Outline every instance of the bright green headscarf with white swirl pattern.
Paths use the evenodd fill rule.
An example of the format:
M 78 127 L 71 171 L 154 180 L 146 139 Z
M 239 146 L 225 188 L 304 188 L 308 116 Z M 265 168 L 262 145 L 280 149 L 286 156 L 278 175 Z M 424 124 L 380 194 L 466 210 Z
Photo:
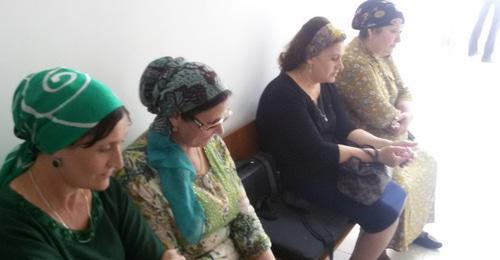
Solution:
M 111 89 L 73 69 L 53 68 L 24 78 L 12 102 L 14 134 L 24 142 L 5 158 L 0 187 L 26 171 L 38 153 L 68 147 L 120 106 Z

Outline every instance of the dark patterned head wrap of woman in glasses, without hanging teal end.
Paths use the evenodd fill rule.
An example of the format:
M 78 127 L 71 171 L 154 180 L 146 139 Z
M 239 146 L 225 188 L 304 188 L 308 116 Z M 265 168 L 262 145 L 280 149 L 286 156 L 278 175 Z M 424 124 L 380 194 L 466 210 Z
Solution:
M 190 111 L 228 91 L 210 67 L 182 57 L 152 61 L 141 77 L 140 97 L 148 111 L 156 114 L 151 129 L 170 135 L 168 117 Z

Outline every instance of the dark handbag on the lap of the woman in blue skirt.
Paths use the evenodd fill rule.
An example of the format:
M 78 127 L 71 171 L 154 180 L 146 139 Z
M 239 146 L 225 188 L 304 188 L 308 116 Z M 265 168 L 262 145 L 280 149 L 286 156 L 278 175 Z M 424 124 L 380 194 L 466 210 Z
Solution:
M 351 157 L 339 165 L 337 188 L 352 200 L 364 205 L 377 201 L 390 181 L 387 167 L 378 162 L 378 151 L 369 145 L 360 148 L 373 162 L 363 162 L 358 157 Z

